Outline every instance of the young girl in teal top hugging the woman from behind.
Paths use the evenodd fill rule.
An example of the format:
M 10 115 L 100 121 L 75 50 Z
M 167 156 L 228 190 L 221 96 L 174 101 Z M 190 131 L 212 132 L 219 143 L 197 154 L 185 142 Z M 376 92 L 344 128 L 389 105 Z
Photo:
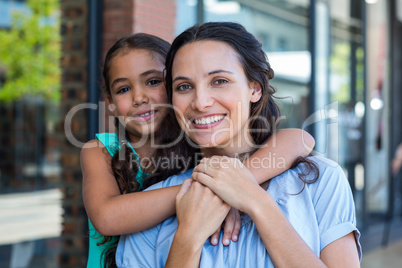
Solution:
M 172 109 L 164 105 L 167 95 L 163 70 L 168 49 L 169 44 L 158 37 L 134 34 L 117 41 L 106 55 L 103 71 L 106 97 L 116 117 L 119 135 L 98 134 L 81 153 L 83 199 L 90 219 L 88 267 L 100 267 L 101 252 L 113 248 L 117 241 L 113 237 L 105 243 L 102 235 L 138 232 L 174 215 L 179 186 L 139 191 L 183 172 L 197 161 L 194 148 L 185 139 L 177 139 L 180 127 Z M 297 156 L 307 155 L 314 146 L 311 136 L 301 130 L 278 131 L 275 139 L 267 141 L 267 146 L 252 158 L 276 157 L 282 160 L 281 164 L 268 168 L 248 166 L 261 183 L 288 169 Z M 175 145 L 159 146 L 170 143 Z M 185 161 L 178 163 L 176 156 Z M 145 170 L 138 165 L 143 159 L 148 159 Z M 158 160 L 167 160 L 169 164 Z M 236 214 L 230 216 L 232 220 L 226 220 L 225 245 L 231 238 L 237 240 L 240 223 L 235 223 L 233 215 Z M 211 238 L 215 245 L 218 234 L 219 231 Z

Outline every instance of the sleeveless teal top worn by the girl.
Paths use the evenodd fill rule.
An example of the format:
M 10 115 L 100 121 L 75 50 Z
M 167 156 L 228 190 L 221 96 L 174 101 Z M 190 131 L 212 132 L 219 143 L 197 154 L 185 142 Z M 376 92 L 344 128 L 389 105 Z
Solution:
M 103 143 L 103 145 L 105 145 L 107 151 L 112 157 L 120 149 L 119 138 L 116 133 L 99 133 L 96 134 L 96 139 L 98 139 L 100 142 Z M 134 148 L 130 145 L 130 143 L 127 144 L 133 150 L 136 160 L 139 160 Z M 136 179 L 140 184 L 140 189 L 142 188 L 144 177 L 145 177 L 144 172 L 141 169 L 139 169 L 136 175 Z M 87 268 L 104 267 L 102 252 L 105 249 L 111 247 L 116 241 L 118 241 L 119 236 L 113 236 L 111 241 L 103 245 L 98 245 L 98 243 L 103 242 L 104 236 L 99 234 L 95 230 L 89 219 L 88 219 L 88 229 L 89 229 L 89 253 L 88 253 Z

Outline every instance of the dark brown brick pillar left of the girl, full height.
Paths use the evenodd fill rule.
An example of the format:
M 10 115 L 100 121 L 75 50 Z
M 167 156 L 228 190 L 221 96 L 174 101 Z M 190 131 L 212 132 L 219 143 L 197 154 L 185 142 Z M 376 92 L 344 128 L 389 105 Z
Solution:
M 80 148 L 71 144 L 64 134 L 64 120 L 75 105 L 87 102 L 88 76 L 88 6 L 86 1 L 61 1 L 62 35 L 62 102 L 61 121 L 57 126 L 63 135 L 60 142 L 63 192 L 63 231 L 60 241 L 61 267 L 85 267 L 87 260 L 87 219 L 81 198 L 82 174 Z M 72 134 L 86 141 L 87 115 L 77 112 L 71 122 Z

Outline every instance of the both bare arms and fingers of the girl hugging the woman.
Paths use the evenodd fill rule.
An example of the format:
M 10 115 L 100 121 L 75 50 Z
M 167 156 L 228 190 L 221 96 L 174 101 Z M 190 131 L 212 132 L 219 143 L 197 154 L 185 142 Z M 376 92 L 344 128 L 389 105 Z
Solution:
M 269 157 L 272 167 L 265 167 L 267 162 L 261 162 L 260 166 L 252 161 L 245 163 L 259 183 L 290 168 L 298 156 L 308 155 L 314 146 L 314 139 L 301 129 L 284 129 L 272 135 L 266 145 L 250 160 Z M 100 141 L 93 140 L 81 151 L 84 205 L 100 234 L 121 235 L 142 231 L 174 215 L 175 197 L 180 186 L 121 195 L 111 169 L 111 157 L 105 150 Z M 230 238 L 237 240 L 235 237 L 240 224 L 236 222 L 238 217 L 226 220 L 223 241 Z M 217 241 L 218 234 L 215 233 L 211 240 Z

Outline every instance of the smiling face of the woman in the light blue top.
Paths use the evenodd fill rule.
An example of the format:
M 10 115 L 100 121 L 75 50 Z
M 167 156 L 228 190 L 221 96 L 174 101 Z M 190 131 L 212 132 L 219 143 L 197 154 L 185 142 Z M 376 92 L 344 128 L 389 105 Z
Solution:
M 248 81 L 230 45 L 197 41 L 183 46 L 175 56 L 172 79 L 177 119 L 195 143 L 223 148 L 226 155 L 252 148 L 250 103 L 261 98 L 261 87 Z

